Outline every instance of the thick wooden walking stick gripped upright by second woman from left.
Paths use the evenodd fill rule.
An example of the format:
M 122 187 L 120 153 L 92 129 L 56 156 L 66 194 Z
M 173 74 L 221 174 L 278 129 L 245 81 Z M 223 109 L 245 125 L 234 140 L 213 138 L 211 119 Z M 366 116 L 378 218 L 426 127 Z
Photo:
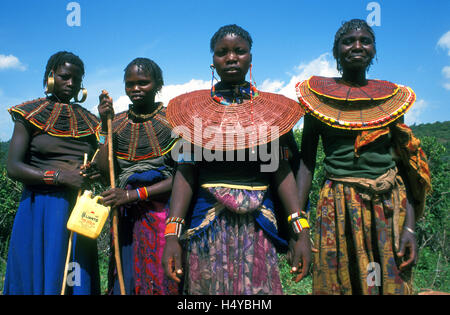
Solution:
M 116 187 L 116 180 L 114 175 L 114 155 L 113 155 L 113 140 L 112 140 L 112 119 L 108 118 L 108 160 L 109 160 L 109 178 L 111 182 L 111 188 Z M 120 294 L 125 295 L 125 284 L 123 282 L 122 262 L 120 260 L 119 249 L 119 213 L 117 208 L 113 208 L 113 240 L 114 240 L 114 257 L 116 259 L 117 277 L 119 279 Z

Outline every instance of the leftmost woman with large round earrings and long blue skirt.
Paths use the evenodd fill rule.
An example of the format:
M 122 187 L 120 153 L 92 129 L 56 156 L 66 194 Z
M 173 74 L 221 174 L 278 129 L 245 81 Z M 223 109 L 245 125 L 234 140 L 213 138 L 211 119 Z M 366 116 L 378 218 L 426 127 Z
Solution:
M 77 191 L 90 176 L 84 156 L 97 148 L 97 118 L 77 100 L 84 64 L 73 53 L 50 57 L 47 97 L 9 109 L 15 122 L 8 176 L 24 184 L 10 240 L 4 294 L 59 294 L 69 239 L 66 228 Z M 85 90 L 83 94 L 85 98 Z M 93 175 L 93 174 L 91 174 Z M 71 259 L 76 275 L 68 290 L 99 294 L 96 241 L 77 235 Z

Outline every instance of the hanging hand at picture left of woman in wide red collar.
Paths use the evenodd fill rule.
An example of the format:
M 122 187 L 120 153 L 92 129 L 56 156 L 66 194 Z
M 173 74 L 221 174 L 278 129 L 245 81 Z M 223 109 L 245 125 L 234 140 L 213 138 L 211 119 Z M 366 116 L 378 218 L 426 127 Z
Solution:
M 164 273 L 170 279 L 180 283 L 181 277 L 183 275 L 182 269 L 182 249 L 178 237 L 167 236 L 166 245 L 164 246 L 164 252 L 162 256 L 162 265 L 164 268 Z

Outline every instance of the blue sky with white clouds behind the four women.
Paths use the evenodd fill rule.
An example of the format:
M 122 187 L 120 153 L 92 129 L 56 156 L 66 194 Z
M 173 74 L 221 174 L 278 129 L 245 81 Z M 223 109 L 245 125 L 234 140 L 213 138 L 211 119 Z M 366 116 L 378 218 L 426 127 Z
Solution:
M 79 26 L 67 23 L 68 16 L 76 22 L 70 19 L 76 9 L 67 9 L 71 2 L 79 4 Z M 53 53 L 72 51 L 84 61 L 89 92 L 84 107 L 97 113 L 98 95 L 106 89 L 120 111 L 128 102 L 123 69 L 136 57 L 151 58 L 162 68 L 164 102 L 209 88 L 210 38 L 231 23 L 253 38 L 258 88 L 294 98 L 299 80 L 337 75 L 331 49 L 343 21 L 377 17 L 378 61 L 369 77 L 413 88 L 417 102 L 408 123 L 450 120 L 449 13 L 448 0 L 2 1 L 0 141 L 12 134 L 6 109 L 43 96 L 42 77 Z

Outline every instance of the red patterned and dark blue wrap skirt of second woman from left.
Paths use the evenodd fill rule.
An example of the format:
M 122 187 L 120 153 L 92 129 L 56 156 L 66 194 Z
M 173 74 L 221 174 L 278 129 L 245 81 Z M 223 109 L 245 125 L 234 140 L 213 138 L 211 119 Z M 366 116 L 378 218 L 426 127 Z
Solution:
M 151 170 L 136 173 L 128 179 L 126 189 L 149 186 L 164 178 L 162 172 Z M 164 198 L 161 198 L 164 199 Z M 146 200 L 127 204 L 119 211 L 119 247 L 127 295 L 175 295 L 180 286 L 164 274 L 161 264 L 165 221 L 169 213 L 165 200 Z M 120 294 L 112 242 L 109 291 Z

